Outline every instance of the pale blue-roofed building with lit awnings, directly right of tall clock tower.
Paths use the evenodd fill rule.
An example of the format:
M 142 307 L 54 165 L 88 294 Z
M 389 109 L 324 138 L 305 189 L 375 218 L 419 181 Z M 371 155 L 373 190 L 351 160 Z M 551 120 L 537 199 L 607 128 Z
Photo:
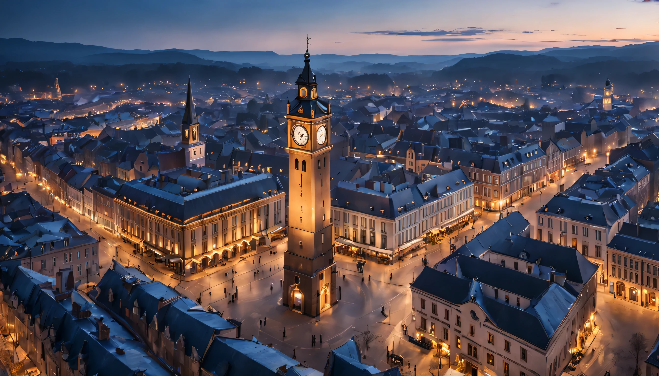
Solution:
M 473 195 L 459 169 L 419 182 L 399 164 L 373 163 L 362 178 L 331 190 L 335 250 L 390 264 L 428 232 L 469 221 Z

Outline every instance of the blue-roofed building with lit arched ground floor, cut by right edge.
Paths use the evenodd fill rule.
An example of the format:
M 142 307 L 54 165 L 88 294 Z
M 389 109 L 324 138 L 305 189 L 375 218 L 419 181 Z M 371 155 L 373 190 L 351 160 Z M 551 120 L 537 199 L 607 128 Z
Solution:
M 659 310 L 659 230 L 623 223 L 607 244 L 608 292 L 646 308 Z

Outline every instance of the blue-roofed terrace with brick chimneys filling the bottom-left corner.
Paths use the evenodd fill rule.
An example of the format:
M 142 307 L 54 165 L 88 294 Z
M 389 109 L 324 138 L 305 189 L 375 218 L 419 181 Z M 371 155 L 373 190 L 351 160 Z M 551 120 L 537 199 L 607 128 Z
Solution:
M 163 362 L 144 356 L 140 338 L 74 288 L 72 273 L 48 277 L 18 265 L 3 271 L 0 323 L 13 333 L 0 338 L 7 373 L 171 375 Z

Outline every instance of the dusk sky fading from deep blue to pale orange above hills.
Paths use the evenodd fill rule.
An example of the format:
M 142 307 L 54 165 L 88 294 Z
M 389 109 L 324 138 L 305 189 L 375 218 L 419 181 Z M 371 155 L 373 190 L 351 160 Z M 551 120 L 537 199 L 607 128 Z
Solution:
M 7 1 L 2 38 L 120 49 L 451 55 L 659 40 L 659 2 Z M 26 24 L 26 20 L 30 20 Z

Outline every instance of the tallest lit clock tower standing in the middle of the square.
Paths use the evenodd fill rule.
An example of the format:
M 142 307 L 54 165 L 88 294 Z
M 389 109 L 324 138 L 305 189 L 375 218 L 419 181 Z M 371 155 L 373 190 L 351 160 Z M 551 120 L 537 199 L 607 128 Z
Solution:
M 318 316 L 337 302 L 329 196 L 329 103 L 318 98 L 316 75 L 304 68 L 287 103 L 289 152 L 288 250 L 284 254 L 283 305 Z

